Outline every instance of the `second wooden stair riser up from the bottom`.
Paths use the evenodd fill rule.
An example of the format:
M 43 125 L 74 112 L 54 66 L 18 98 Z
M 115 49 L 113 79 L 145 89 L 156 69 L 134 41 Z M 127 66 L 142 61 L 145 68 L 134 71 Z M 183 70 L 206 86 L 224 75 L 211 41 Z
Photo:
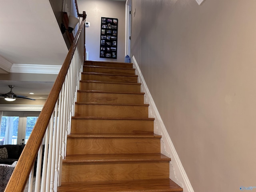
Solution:
M 160 153 L 160 138 L 68 138 L 67 155 Z

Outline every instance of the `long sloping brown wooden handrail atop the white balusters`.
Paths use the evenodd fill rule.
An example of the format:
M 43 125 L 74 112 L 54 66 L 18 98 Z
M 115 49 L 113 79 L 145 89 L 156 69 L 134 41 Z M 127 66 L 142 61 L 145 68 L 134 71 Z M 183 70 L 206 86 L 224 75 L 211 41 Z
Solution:
M 86 13 L 83 12 L 83 20 L 80 24 L 78 32 L 76 33 L 74 41 L 71 44 L 66 59 L 64 60 L 62 68 L 60 69 L 56 81 L 54 82 L 52 90 L 50 91 L 44 107 L 42 108 L 38 120 L 36 121 L 34 129 L 32 130 L 26 146 L 24 147 L 24 150 L 22 151 L 22 154 L 18 160 L 18 163 L 14 168 L 12 176 L 6 186 L 6 189 L 4 190 L 5 192 L 24 191 L 28 176 L 30 174 L 30 171 L 32 170 L 39 147 L 46 132 L 46 128 L 52 116 L 52 112 L 58 100 L 68 69 L 70 67 L 74 51 L 76 50 L 78 38 L 82 34 L 83 27 L 85 27 L 85 18 Z

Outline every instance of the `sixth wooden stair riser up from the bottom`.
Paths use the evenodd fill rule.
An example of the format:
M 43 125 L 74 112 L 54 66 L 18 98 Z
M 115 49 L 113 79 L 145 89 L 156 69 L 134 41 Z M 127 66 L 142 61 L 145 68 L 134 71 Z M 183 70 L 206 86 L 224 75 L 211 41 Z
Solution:
M 140 92 L 140 85 L 106 84 L 94 82 L 80 82 L 80 90 L 97 90 L 112 92 Z

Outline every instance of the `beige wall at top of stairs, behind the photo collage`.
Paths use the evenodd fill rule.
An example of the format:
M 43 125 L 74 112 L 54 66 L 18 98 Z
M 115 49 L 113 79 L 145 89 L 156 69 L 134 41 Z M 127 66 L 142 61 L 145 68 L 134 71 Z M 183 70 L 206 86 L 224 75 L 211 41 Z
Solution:
M 113 0 L 77 0 L 79 11 L 86 11 L 86 51 L 89 60 L 124 62 L 125 56 L 125 2 Z M 100 58 L 101 17 L 118 18 L 117 59 Z

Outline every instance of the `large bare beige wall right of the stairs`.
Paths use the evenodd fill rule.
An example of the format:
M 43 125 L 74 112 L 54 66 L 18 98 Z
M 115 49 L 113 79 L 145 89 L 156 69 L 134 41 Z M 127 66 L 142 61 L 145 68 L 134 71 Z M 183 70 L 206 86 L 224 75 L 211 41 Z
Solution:
M 256 186 L 255 10 L 254 0 L 132 1 L 132 55 L 195 192 Z

